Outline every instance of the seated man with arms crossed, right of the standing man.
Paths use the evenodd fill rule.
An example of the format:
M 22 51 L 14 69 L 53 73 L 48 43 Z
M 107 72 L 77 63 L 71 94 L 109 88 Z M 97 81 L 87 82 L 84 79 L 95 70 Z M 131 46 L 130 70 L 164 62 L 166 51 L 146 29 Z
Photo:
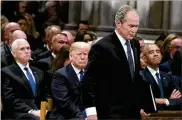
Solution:
M 155 44 L 148 44 L 145 46 L 143 51 L 143 59 L 145 63 L 147 64 L 147 67 L 142 71 L 142 75 L 144 76 L 144 80 L 147 81 L 153 90 L 153 94 L 155 98 L 167 98 L 165 99 L 165 105 L 169 106 L 169 98 L 172 91 L 174 89 L 177 89 L 177 91 L 174 91 L 174 94 L 181 94 L 179 92 L 179 85 L 176 84 L 176 82 L 173 82 L 174 80 L 171 79 L 171 77 L 162 71 L 159 71 L 159 64 L 162 59 L 162 55 L 160 52 L 160 49 Z M 179 98 L 181 96 L 176 96 L 174 98 Z M 160 107 L 159 107 L 160 108 Z M 161 108 L 165 108 L 165 106 L 162 106 Z

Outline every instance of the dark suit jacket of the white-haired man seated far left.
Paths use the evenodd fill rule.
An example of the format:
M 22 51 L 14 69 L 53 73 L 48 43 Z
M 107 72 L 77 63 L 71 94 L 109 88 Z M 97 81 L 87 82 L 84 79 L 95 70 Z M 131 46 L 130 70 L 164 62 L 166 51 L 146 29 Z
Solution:
M 29 110 L 39 109 L 40 101 L 46 97 L 44 96 L 43 72 L 34 67 L 30 68 L 36 80 L 36 96 L 33 95 L 26 76 L 16 63 L 1 70 L 3 106 L 7 116 L 21 118 Z

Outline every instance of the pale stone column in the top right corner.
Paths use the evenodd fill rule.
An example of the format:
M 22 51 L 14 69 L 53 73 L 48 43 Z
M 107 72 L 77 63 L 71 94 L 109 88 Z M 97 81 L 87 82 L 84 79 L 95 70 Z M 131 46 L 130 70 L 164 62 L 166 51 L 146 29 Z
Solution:
M 170 29 L 182 30 L 182 1 L 171 1 Z

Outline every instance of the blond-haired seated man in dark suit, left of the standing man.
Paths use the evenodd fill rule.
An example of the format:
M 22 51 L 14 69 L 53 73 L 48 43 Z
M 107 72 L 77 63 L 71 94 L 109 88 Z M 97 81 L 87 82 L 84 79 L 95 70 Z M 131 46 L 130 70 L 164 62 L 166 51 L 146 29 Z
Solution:
M 71 64 L 58 69 L 53 75 L 51 89 L 55 108 L 50 114 L 51 119 L 84 118 L 84 109 L 80 105 L 80 81 L 88 62 L 89 50 L 90 45 L 85 42 L 73 43 L 69 54 Z

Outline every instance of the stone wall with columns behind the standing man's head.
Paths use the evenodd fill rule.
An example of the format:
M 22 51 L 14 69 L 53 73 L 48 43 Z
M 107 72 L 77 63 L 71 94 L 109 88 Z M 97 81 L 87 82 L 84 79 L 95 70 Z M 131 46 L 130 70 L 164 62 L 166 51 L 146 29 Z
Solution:
M 114 16 L 123 4 L 133 6 L 140 15 L 139 34 L 155 39 L 163 32 L 182 33 L 182 1 L 108 0 L 69 1 L 67 26 L 88 20 L 99 36 L 114 29 Z M 101 29 L 100 29 L 101 28 Z M 105 30 L 105 29 L 109 29 Z

